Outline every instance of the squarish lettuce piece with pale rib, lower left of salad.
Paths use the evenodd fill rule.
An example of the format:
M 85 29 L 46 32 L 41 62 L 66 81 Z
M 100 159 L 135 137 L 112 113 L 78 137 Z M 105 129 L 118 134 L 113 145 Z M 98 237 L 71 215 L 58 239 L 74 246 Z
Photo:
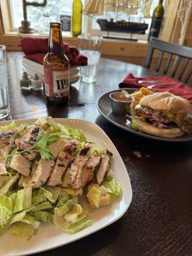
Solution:
M 13 202 L 13 213 L 29 209 L 32 205 L 32 188 L 24 188 L 10 195 Z

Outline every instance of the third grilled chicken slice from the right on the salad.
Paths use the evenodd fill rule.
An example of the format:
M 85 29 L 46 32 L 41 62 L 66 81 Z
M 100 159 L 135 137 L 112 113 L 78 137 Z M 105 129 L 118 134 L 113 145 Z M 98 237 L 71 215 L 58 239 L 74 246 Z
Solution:
M 86 143 L 78 156 L 76 157 L 74 163 L 71 164 L 70 172 L 68 173 L 68 186 L 72 186 L 72 188 L 81 188 L 81 174 L 83 172 L 83 167 L 88 161 L 87 153 L 92 148 L 90 143 Z

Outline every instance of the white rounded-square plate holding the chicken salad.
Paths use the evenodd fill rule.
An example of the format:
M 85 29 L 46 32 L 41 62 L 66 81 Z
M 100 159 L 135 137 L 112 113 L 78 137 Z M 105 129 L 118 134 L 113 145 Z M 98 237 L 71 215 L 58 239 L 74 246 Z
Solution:
M 29 241 L 27 241 L 26 238 L 23 239 L 10 236 L 9 234 L 3 234 L 0 237 L 1 256 L 28 255 L 72 243 L 115 222 L 125 214 L 131 204 L 132 189 L 127 170 L 115 145 L 113 145 L 113 142 L 109 139 L 106 133 L 102 131 L 98 125 L 85 120 L 67 118 L 55 118 L 54 120 L 60 122 L 60 124 L 70 125 L 70 127 L 73 128 L 80 128 L 84 134 L 86 134 L 88 140 L 95 141 L 97 145 L 106 147 L 113 153 L 111 169 L 114 172 L 115 179 L 122 184 L 122 198 L 115 200 L 111 206 L 90 213 L 88 218 L 92 220 L 92 227 L 85 228 L 76 234 L 63 232 L 59 228 L 56 228 L 52 223 L 42 225 L 36 236 L 32 237 Z M 35 122 L 35 119 L 16 120 L 17 124 L 28 122 Z M 4 121 L 1 122 L 1 125 L 9 123 L 10 121 Z

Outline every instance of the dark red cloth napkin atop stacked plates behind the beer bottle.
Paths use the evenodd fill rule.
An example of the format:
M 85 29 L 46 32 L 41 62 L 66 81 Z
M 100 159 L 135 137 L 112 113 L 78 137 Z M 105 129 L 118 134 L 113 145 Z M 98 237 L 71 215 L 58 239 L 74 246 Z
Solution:
M 77 48 L 73 45 L 63 43 L 65 54 L 72 66 L 86 66 L 87 58 L 80 54 Z M 34 37 L 23 36 L 19 45 L 26 54 L 26 58 L 37 63 L 42 64 L 45 54 L 48 51 L 48 38 L 47 37 Z

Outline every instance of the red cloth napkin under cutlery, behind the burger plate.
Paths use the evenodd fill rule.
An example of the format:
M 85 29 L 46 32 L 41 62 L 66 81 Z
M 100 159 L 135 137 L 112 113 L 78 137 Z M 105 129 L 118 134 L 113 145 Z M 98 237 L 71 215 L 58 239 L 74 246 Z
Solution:
M 146 83 L 138 84 L 138 81 L 146 81 Z M 124 81 L 119 84 L 120 88 L 141 88 L 152 86 L 153 84 L 148 84 L 147 81 L 163 81 L 161 83 L 156 83 L 152 87 L 154 92 L 171 92 L 175 95 L 183 97 L 192 103 L 192 89 L 186 86 L 184 83 L 179 83 L 170 77 L 134 77 L 131 73 L 125 77 Z

